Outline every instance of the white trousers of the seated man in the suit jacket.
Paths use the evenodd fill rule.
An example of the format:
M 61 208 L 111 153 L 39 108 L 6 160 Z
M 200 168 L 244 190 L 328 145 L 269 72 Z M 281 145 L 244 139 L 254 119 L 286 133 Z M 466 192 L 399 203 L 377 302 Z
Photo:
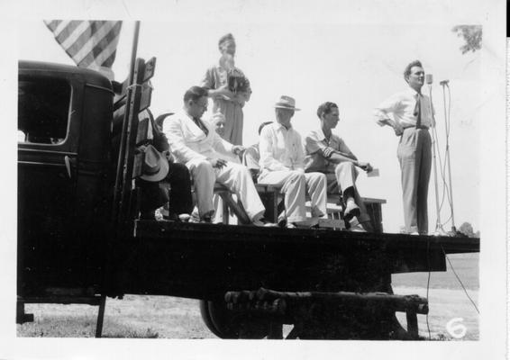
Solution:
M 214 183 L 223 184 L 237 195 L 250 220 L 260 219 L 266 211 L 250 171 L 245 166 L 228 161 L 226 166 L 219 169 L 202 159 L 188 161 L 186 166 L 193 177 L 196 204 L 201 218 L 205 214 L 214 213 Z

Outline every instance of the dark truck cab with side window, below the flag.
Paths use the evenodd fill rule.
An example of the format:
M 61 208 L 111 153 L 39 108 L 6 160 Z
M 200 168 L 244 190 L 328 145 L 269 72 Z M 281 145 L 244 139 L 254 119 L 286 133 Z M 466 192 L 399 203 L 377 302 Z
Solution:
M 113 97 L 95 71 L 19 63 L 19 295 L 100 282 Z

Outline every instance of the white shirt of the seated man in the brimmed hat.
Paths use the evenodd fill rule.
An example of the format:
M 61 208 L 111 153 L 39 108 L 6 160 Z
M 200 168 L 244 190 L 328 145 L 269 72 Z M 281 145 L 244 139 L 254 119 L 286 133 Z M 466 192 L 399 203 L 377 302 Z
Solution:
M 260 132 L 260 168 L 264 171 L 304 169 L 305 152 L 301 135 L 292 126 L 278 122 L 264 126 Z

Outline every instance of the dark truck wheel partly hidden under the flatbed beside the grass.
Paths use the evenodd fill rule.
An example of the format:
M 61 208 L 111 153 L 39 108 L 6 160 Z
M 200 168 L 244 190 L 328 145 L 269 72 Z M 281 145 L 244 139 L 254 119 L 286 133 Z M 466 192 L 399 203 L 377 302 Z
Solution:
M 222 301 L 200 301 L 200 314 L 205 325 L 218 338 L 265 338 L 267 321 L 251 319 L 250 314 L 232 314 Z

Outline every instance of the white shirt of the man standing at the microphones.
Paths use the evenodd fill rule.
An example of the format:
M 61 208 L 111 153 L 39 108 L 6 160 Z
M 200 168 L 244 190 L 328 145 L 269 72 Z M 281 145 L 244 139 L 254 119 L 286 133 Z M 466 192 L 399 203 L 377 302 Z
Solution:
M 387 100 L 380 103 L 374 110 L 376 122 L 383 126 L 383 120 L 393 119 L 404 128 L 416 126 L 416 116 L 414 115 L 414 108 L 416 106 L 416 95 L 418 93 L 411 87 L 405 91 L 393 94 Z M 433 117 L 431 116 L 431 108 L 433 105 L 427 95 L 422 94 L 420 109 L 422 117 L 422 126 L 430 128 L 433 124 Z

